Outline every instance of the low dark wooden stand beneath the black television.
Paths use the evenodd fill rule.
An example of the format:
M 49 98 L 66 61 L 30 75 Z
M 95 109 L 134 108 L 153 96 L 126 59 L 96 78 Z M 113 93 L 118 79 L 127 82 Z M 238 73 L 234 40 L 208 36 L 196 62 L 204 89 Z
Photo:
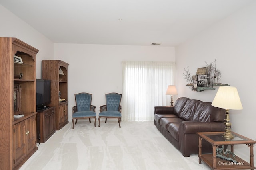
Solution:
M 55 107 L 38 110 L 36 115 L 36 142 L 44 143 L 55 133 Z

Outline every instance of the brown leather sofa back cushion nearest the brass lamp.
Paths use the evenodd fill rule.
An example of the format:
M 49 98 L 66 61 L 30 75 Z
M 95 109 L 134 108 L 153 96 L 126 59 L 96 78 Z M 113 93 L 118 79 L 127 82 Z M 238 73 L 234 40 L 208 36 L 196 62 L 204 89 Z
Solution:
M 225 109 L 214 107 L 211 104 L 211 102 L 200 102 L 192 121 L 224 122 Z

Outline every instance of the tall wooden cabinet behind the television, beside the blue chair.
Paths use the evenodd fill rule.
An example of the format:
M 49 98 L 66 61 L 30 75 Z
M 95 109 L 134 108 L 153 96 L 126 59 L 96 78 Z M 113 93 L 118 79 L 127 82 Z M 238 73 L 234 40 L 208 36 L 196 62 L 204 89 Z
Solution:
M 51 80 L 49 106 L 55 106 L 56 130 L 68 123 L 68 65 L 61 60 L 42 61 L 42 78 Z

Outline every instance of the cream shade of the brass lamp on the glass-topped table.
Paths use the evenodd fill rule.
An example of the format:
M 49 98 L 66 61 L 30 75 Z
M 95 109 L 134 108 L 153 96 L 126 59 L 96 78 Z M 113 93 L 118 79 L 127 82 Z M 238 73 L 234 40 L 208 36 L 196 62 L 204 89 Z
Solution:
M 236 87 L 220 86 L 212 106 L 223 109 L 242 110 L 243 106 Z

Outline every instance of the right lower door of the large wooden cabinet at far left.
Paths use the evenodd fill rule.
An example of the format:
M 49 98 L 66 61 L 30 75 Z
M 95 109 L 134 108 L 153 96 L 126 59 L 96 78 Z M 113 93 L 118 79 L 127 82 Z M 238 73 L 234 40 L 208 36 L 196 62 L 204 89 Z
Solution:
M 36 115 L 26 119 L 27 150 L 30 153 L 36 148 Z

